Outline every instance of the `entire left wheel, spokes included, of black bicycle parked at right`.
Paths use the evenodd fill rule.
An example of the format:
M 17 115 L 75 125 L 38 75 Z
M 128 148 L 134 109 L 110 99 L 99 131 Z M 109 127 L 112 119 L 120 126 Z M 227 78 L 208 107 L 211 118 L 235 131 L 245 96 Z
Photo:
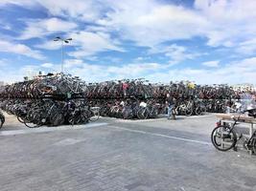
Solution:
M 212 131 L 211 140 L 215 148 L 220 151 L 228 151 L 235 147 L 237 136 L 229 126 L 221 125 Z

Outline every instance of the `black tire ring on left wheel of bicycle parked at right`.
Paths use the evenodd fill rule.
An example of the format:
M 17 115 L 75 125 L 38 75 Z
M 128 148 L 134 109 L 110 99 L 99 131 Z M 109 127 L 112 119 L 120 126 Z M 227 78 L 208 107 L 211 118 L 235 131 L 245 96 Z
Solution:
M 230 146 L 228 146 L 227 148 L 222 148 L 221 146 L 223 146 L 223 144 L 221 145 L 221 143 L 218 143 L 217 140 L 216 140 L 216 135 L 215 135 L 215 133 L 216 133 L 218 130 L 221 130 L 221 128 L 223 128 L 222 131 L 223 131 L 223 130 L 226 131 L 225 134 L 227 134 L 227 135 L 224 135 L 224 136 L 225 136 L 226 138 L 230 138 L 230 140 L 231 140 L 231 144 L 230 144 Z M 218 133 L 219 136 L 221 136 L 221 135 L 220 135 L 220 132 L 217 132 L 217 133 Z M 223 134 L 223 132 L 222 132 L 222 134 Z M 223 135 L 222 135 L 222 136 L 223 136 Z M 223 139 L 224 139 L 224 138 L 223 138 Z M 213 143 L 213 145 L 214 145 L 214 147 L 215 147 L 216 149 L 218 149 L 219 151 L 223 151 L 223 152 L 224 152 L 224 151 L 228 151 L 228 150 L 230 150 L 230 149 L 232 149 L 233 147 L 236 146 L 236 143 L 237 143 L 237 135 L 236 135 L 236 133 L 233 131 L 233 129 L 230 129 L 229 126 L 220 125 L 220 126 L 214 128 L 214 130 L 212 131 L 212 134 L 211 134 L 211 141 L 212 141 L 212 143 Z

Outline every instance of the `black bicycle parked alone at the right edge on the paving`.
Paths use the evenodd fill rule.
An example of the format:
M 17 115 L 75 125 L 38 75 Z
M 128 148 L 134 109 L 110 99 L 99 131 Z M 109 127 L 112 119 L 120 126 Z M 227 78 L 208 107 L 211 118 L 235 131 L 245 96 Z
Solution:
M 217 123 L 217 127 L 212 131 L 211 140 L 215 148 L 220 151 L 228 151 L 236 148 L 238 140 L 243 140 L 244 149 L 256 154 L 256 130 L 250 138 L 246 138 L 235 127 L 239 124 L 241 115 L 233 117 L 234 123 Z

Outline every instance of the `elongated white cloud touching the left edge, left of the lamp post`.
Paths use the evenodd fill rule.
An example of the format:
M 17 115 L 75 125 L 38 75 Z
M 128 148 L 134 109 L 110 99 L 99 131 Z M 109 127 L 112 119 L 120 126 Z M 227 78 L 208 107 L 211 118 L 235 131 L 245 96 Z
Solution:
M 44 59 L 45 56 L 38 51 L 34 51 L 26 45 L 12 43 L 8 41 L 0 41 L 0 52 L 3 53 L 17 53 L 21 55 L 26 55 L 28 57 L 33 57 L 35 59 Z

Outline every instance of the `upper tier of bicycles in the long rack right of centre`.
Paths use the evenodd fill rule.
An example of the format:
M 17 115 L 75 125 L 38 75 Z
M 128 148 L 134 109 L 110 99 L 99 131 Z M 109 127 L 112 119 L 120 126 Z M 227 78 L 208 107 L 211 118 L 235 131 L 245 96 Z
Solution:
M 189 82 L 171 82 L 170 84 L 149 83 L 145 79 L 122 79 L 89 83 L 85 96 L 90 99 L 124 99 L 136 97 L 140 99 L 161 99 L 168 93 L 176 99 L 212 99 L 222 100 L 239 98 L 240 95 L 227 85 L 191 86 Z

